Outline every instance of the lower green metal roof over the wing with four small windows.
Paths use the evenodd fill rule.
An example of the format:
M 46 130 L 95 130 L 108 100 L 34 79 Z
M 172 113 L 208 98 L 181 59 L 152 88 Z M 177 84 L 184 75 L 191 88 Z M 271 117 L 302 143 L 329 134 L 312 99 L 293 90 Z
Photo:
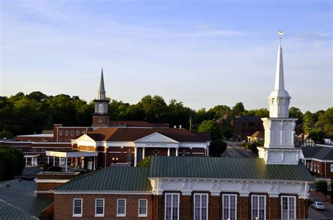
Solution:
M 82 175 L 54 191 L 151 191 L 148 167 L 107 167 Z

